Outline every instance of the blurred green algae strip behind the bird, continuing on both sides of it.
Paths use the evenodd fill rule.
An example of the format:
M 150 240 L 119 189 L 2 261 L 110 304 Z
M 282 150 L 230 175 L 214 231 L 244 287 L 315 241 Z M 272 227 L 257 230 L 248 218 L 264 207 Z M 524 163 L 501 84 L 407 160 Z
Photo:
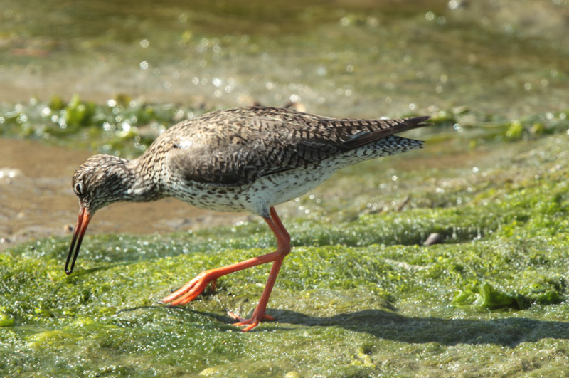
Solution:
M 53 95 L 48 101 L 31 98 L 27 103 L 0 104 L 0 136 L 137 157 L 167 127 L 207 110 L 199 105 L 144 103 L 124 94 L 103 105 L 81 100 L 78 95 L 69 101 Z M 568 113 L 506 120 L 459 107 L 436 112 L 430 119 L 430 130 L 420 130 L 416 135 L 430 143 L 453 140 L 454 148 L 467 144 L 471 149 L 488 142 L 536 140 L 564 132 Z

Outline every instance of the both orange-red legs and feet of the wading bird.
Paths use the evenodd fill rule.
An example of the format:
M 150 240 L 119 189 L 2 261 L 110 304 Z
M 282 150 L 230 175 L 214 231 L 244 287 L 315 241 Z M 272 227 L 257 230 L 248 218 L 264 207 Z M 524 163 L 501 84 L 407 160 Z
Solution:
M 255 308 L 255 311 L 253 311 L 251 318 L 244 320 L 233 313 L 228 312 L 228 314 L 236 320 L 239 320 L 235 325 L 247 325 L 247 327 L 243 328 L 243 331 L 248 331 L 256 327 L 261 320 L 273 320 L 272 316 L 265 314 L 265 310 L 267 309 L 267 303 L 269 302 L 272 287 L 275 285 L 275 281 L 277 280 L 277 275 L 279 274 L 282 261 L 284 261 L 285 256 L 290 252 L 290 236 L 285 229 L 285 226 L 282 225 L 282 221 L 277 215 L 275 208 L 271 207 L 270 217 L 264 219 L 277 238 L 277 250 L 275 252 L 250 258 L 248 260 L 241 261 L 240 263 L 203 271 L 196 275 L 196 278 L 193 278 L 193 280 L 179 288 L 179 290 L 176 290 L 174 293 L 171 293 L 166 298 L 162 299 L 161 302 L 169 303 L 171 306 L 184 305 L 200 295 L 209 283 L 213 282 L 213 285 L 215 285 L 216 280 L 222 275 L 241 271 L 245 268 L 250 268 L 260 264 L 270 263 L 272 261 L 273 263 L 267 284 L 265 285 L 265 289 L 262 291 L 259 304 L 257 305 L 257 308 Z

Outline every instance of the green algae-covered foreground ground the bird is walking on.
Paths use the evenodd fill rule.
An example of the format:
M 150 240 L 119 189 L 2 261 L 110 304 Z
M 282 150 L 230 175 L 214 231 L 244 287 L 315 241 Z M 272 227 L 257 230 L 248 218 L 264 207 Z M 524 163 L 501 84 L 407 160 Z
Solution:
M 226 311 L 252 312 L 268 266 L 221 278 L 188 305 L 157 301 L 207 268 L 272 251 L 262 220 L 87 233 L 70 276 L 67 238 L 5 251 L 0 375 L 569 374 L 566 115 L 454 123 L 470 116 L 440 114 L 412 135 L 425 149 L 344 169 L 280 206 L 294 248 L 268 306 L 276 320 L 247 333 Z M 68 137 L 83 138 L 92 122 Z M 41 135 L 33 130 L 28 137 Z M 442 243 L 423 246 L 431 233 Z

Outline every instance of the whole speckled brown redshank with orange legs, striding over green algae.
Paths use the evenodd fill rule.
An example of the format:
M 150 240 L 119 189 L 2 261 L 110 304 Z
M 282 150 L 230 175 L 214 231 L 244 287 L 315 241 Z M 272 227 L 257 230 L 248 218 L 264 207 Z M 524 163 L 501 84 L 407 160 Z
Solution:
M 317 187 L 341 167 L 422 147 L 420 140 L 393 134 L 425 126 L 427 118 L 335 119 L 292 109 L 239 107 L 172 126 L 137 159 L 92 156 L 73 174 L 79 216 L 65 273 L 73 271 L 95 211 L 113 202 L 171 196 L 204 209 L 249 211 L 265 219 L 275 233 L 277 249 L 203 271 L 161 302 L 184 305 L 222 275 L 272 262 L 252 316 L 242 319 L 228 313 L 243 331 L 251 330 L 262 320 L 273 320 L 265 313 L 267 302 L 291 248 L 274 206 Z

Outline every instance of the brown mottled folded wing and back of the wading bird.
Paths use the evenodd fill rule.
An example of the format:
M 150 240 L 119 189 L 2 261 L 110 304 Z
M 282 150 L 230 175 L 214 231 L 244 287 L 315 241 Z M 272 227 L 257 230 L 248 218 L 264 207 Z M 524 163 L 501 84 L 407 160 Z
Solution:
M 215 114 L 192 122 L 168 152 L 169 166 L 188 182 L 246 184 L 421 127 L 428 118 L 336 120 L 266 107 Z

